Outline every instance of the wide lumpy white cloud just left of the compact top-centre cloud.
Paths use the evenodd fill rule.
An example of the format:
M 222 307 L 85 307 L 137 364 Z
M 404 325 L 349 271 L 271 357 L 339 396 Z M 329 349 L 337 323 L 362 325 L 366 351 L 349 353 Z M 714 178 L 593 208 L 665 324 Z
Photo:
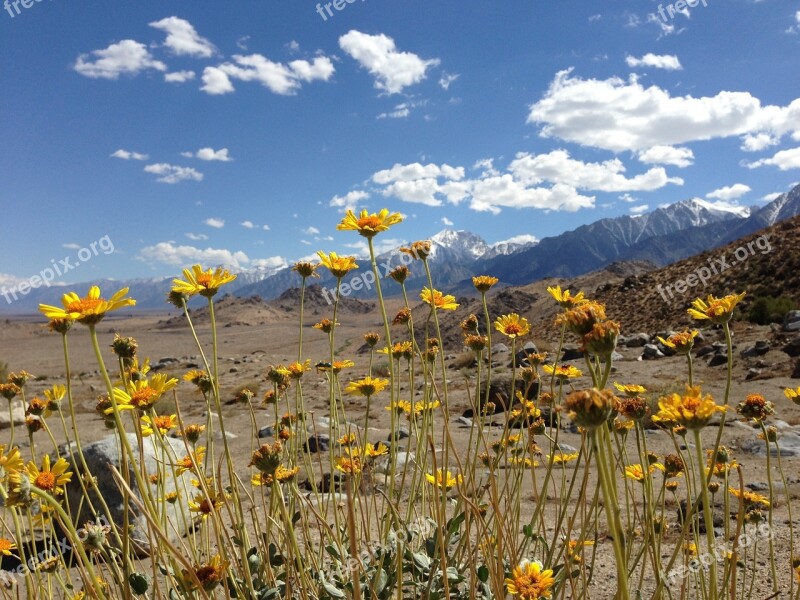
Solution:
M 233 63 L 226 62 L 203 71 L 203 86 L 208 94 L 227 94 L 234 91 L 231 79 L 257 81 L 275 94 L 290 96 L 297 93 L 303 82 L 328 81 L 335 72 L 327 56 L 317 56 L 312 62 L 293 60 L 288 65 L 276 63 L 260 54 L 234 55 Z

